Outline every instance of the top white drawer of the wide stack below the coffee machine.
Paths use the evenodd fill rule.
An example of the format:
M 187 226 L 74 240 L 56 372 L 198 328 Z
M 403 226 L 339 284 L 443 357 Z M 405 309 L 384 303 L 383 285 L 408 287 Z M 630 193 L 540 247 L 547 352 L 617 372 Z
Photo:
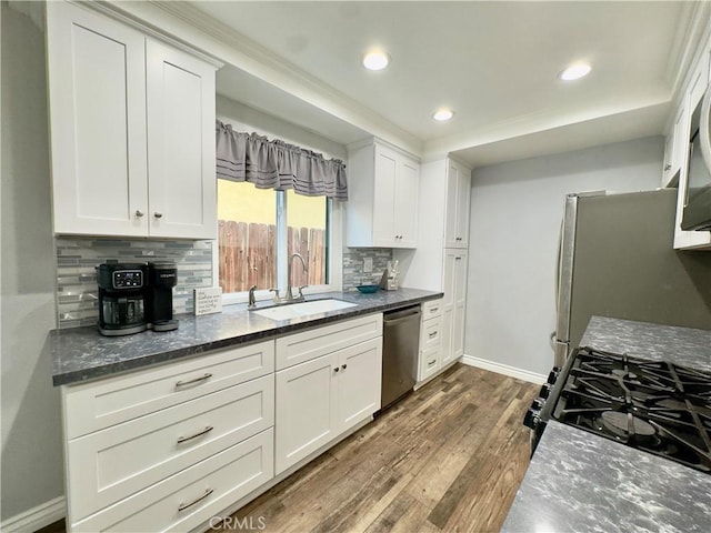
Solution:
M 209 352 L 184 362 L 62 388 L 64 431 L 74 439 L 274 370 L 274 342 Z

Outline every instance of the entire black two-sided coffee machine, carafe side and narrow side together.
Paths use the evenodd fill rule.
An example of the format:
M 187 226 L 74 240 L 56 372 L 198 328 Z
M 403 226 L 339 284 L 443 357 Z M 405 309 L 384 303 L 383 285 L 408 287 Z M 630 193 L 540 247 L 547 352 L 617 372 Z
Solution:
M 99 332 L 129 335 L 147 329 L 172 331 L 174 263 L 102 263 L 99 284 Z

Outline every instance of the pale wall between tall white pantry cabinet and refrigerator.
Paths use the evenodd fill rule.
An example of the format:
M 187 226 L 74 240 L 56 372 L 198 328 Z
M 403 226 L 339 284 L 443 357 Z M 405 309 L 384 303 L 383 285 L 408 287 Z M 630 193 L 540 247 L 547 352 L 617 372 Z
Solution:
M 564 195 L 655 189 L 663 149 L 652 137 L 472 172 L 467 355 L 548 374 Z

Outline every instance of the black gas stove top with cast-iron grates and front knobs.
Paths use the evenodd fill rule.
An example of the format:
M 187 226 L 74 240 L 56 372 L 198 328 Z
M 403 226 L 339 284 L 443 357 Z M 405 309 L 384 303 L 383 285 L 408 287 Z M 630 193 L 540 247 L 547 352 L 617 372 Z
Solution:
M 553 382 L 527 416 L 538 438 L 552 418 L 711 473 L 711 372 L 580 348 L 542 396 Z

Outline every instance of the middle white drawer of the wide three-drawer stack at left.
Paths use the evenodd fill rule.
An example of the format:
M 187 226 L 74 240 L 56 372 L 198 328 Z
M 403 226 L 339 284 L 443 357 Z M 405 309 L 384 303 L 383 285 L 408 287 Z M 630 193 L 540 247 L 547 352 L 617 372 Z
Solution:
M 273 423 L 274 379 L 266 375 L 71 440 L 71 515 L 87 516 Z

